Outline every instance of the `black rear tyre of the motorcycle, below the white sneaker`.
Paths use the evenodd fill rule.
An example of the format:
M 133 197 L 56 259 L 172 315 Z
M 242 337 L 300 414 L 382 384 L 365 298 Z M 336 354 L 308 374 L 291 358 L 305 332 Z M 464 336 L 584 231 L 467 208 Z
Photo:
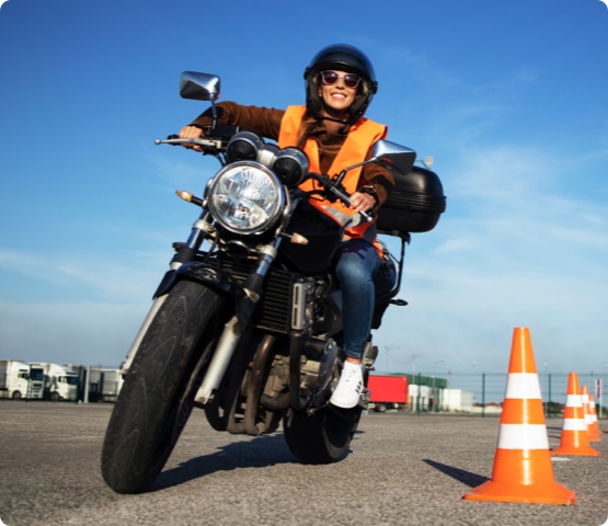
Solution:
M 312 414 L 289 411 L 283 427 L 289 450 L 303 464 L 331 464 L 346 455 L 362 408 L 328 405 Z

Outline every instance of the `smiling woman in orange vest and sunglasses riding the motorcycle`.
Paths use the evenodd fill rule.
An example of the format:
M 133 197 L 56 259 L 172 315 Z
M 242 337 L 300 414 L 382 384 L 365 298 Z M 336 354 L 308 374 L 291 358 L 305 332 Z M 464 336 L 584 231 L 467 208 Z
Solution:
M 275 110 L 221 102 L 217 104 L 217 124 L 238 125 L 276 140 L 280 148 L 301 148 L 309 158 L 310 171 L 330 176 L 369 159 L 376 141 L 386 138 L 387 127 L 364 117 L 378 89 L 367 56 L 346 44 L 324 47 L 312 58 L 303 78 L 306 106 Z M 183 127 L 180 137 L 202 137 L 211 123 L 211 112 L 207 111 Z M 300 187 L 311 192 L 312 206 L 344 228 L 335 272 L 343 294 L 345 362 L 330 401 L 348 409 L 358 403 L 363 389 L 362 356 L 371 328 L 374 279 L 381 262 L 375 224 L 358 213 L 378 210 L 394 180 L 386 167 L 369 163 L 349 170 L 342 184 L 351 194 L 351 206 L 320 196 L 322 188 L 312 179 Z

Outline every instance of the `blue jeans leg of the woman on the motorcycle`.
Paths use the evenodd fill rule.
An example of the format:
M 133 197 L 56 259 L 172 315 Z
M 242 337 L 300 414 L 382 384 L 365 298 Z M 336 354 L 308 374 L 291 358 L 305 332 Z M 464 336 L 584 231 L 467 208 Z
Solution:
M 374 279 L 379 267 L 380 256 L 367 241 L 352 239 L 340 245 L 335 274 L 343 297 L 343 351 L 353 358 L 363 356 L 371 330 L 376 296 Z

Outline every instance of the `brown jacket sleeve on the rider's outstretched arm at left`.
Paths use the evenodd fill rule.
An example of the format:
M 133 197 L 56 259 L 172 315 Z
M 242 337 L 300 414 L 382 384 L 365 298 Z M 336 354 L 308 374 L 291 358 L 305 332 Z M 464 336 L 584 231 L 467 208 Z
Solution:
M 217 104 L 218 123 L 236 125 L 242 129 L 253 132 L 267 139 L 278 140 L 280 121 L 284 110 L 261 106 L 243 106 L 236 102 L 220 102 Z M 211 110 L 205 111 L 196 117 L 191 126 L 208 128 L 211 125 Z

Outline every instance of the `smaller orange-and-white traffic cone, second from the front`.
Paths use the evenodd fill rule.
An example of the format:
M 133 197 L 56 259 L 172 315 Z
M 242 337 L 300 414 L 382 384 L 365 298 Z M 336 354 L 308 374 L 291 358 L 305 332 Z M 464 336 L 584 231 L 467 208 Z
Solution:
M 585 408 L 583 397 L 578 389 L 578 375 L 571 373 L 567 378 L 567 393 L 564 409 L 564 423 L 560 447 L 551 451 L 552 455 L 577 455 L 584 457 L 598 457 L 589 446 L 587 423 L 585 422 Z

